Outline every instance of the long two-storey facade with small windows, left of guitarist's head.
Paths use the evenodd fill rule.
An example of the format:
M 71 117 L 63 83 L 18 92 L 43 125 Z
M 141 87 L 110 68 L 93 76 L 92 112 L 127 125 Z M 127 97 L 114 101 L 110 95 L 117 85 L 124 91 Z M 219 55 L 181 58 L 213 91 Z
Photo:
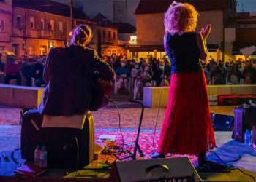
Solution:
M 13 7 L 12 12 L 12 50 L 18 57 L 45 55 L 69 39 L 68 17 L 20 7 Z

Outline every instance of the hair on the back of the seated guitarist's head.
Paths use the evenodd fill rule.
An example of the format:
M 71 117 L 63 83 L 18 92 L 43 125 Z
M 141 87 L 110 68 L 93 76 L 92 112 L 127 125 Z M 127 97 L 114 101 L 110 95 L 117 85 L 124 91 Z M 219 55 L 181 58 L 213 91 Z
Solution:
M 86 46 L 90 43 L 92 39 L 92 30 L 88 25 L 78 25 L 74 31 L 72 31 L 72 36 L 70 39 L 70 44 L 77 44 L 81 46 Z

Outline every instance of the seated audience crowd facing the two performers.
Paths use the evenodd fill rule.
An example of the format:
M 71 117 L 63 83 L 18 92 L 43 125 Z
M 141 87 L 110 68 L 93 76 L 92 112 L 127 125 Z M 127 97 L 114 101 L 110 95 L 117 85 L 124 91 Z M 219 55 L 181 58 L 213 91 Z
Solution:
M 127 59 L 127 55 L 105 55 L 103 61 L 116 71 L 114 92 L 129 93 L 140 99 L 143 87 L 168 86 L 170 82 L 170 61 L 167 58 L 157 59 L 152 56 L 139 60 Z M 15 60 L 7 56 L 5 63 L 0 54 L 0 82 L 26 86 L 44 87 L 42 79 L 45 57 L 23 58 Z M 252 61 L 214 60 L 211 56 L 208 63 L 201 62 L 208 84 L 256 84 L 256 68 Z

